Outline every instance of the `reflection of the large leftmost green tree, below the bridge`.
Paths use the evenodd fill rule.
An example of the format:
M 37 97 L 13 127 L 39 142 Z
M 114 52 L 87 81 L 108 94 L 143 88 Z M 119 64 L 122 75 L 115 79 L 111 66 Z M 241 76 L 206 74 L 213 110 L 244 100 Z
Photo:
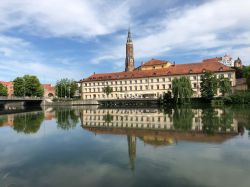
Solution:
M 44 120 L 44 113 L 24 113 L 14 116 L 13 129 L 25 134 L 36 133 Z

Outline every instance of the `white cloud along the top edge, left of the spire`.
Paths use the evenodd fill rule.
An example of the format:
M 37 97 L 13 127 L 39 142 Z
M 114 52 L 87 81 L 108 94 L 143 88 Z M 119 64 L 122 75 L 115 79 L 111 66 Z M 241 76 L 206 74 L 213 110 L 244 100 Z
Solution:
M 41 36 L 91 37 L 115 32 L 129 23 L 126 1 L 2 0 L 0 31 L 14 27 Z

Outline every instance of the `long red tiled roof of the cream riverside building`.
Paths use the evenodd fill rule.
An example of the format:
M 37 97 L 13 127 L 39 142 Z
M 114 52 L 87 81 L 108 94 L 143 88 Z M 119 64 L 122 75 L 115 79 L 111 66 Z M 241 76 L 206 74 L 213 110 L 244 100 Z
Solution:
M 235 71 L 234 69 L 220 63 L 219 62 L 220 60 L 221 58 L 211 58 L 211 59 L 203 60 L 200 63 L 176 64 L 176 65 L 171 65 L 168 68 L 162 68 L 162 69 L 135 70 L 135 71 L 130 71 L 130 72 L 93 74 L 90 77 L 84 79 L 83 82 L 201 74 L 204 71 L 212 71 L 212 72 Z

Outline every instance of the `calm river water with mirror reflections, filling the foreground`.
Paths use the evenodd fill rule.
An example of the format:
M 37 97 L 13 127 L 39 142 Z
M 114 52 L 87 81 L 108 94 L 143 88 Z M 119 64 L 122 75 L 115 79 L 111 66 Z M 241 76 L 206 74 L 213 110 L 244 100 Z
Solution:
M 250 186 L 250 107 L 0 115 L 0 187 Z

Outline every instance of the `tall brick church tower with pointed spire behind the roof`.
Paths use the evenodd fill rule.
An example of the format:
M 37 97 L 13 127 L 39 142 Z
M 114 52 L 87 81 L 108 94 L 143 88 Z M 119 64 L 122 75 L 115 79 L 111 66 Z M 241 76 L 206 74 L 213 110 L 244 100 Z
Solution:
M 129 29 L 127 43 L 126 43 L 125 71 L 133 71 L 134 69 L 135 69 L 134 47 Z

